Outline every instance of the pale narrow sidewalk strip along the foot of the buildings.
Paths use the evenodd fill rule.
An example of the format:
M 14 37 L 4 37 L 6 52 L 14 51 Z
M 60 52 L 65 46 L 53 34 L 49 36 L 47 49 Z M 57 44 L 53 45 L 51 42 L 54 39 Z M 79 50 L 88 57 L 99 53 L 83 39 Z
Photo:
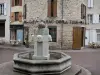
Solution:
M 11 50 L 25 50 L 25 51 L 32 51 L 33 48 L 26 48 L 24 45 L 22 46 L 11 46 L 11 45 L 0 45 L 0 49 L 11 49 Z M 94 52 L 100 51 L 100 48 L 93 49 L 93 48 L 82 48 L 81 50 L 51 50 L 51 51 L 63 51 L 63 52 Z

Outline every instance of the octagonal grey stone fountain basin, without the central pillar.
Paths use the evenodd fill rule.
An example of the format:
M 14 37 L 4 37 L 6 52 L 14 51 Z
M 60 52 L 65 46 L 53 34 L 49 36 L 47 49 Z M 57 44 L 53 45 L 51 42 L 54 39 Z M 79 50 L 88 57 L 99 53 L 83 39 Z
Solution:
M 34 52 L 14 54 L 14 70 L 29 74 L 58 74 L 71 68 L 71 57 L 62 52 L 50 52 L 49 60 L 32 60 Z

